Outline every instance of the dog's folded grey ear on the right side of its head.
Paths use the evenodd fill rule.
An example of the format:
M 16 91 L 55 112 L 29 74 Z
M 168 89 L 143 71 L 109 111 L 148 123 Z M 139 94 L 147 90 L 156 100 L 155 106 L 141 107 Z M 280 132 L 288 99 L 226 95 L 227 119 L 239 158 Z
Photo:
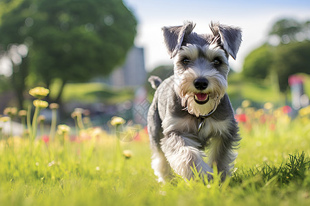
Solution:
M 223 48 L 236 60 L 236 56 L 242 41 L 242 32 L 240 27 L 220 25 L 219 23 L 210 23 L 210 29 L 214 34 L 214 40 L 223 45 Z

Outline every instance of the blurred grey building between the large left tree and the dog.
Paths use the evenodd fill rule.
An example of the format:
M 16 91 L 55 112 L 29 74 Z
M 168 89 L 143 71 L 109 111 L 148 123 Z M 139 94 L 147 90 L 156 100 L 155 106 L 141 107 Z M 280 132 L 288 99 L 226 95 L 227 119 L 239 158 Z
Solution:
M 107 82 L 115 87 L 141 87 L 146 78 L 144 49 L 132 47 L 127 53 L 124 65 L 116 68 Z

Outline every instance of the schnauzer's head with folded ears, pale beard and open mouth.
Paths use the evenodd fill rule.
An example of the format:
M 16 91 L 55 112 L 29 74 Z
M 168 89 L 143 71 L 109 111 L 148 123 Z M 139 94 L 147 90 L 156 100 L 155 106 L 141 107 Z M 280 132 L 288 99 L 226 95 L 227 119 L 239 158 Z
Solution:
M 213 111 L 225 95 L 229 55 L 241 44 L 238 27 L 211 23 L 212 34 L 192 32 L 195 24 L 163 27 L 164 42 L 174 58 L 174 90 L 183 106 L 199 117 Z

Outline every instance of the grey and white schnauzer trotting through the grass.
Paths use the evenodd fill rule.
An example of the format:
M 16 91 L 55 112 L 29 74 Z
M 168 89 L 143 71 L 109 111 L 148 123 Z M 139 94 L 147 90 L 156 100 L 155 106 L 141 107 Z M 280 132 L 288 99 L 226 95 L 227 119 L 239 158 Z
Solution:
M 156 89 L 147 115 L 152 168 L 164 182 L 172 169 L 192 179 L 193 168 L 212 179 L 212 165 L 222 180 L 234 168 L 240 136 L 227 89 L 229 55 L 236 59 L 239 27 L 211 23 L 212 34 L 192 32 L 195 24 L 163 27 L 164 42 L 174 58 L 174 75 L 151 76 Z M 209 148 L 207 155 L 205 148 Z M 207 163 L 204 157 L 208 157 Z

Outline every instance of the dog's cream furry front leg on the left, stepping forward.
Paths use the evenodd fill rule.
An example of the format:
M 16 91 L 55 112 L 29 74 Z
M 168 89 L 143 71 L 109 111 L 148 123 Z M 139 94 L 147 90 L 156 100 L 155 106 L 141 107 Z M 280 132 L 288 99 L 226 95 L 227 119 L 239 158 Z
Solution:
M 192 138 L 185 137 L 178 133 L 169 133 L 161 139 L 161 149 L 163 150 L 171 168 L 183 178 L 192 179 L 192 168 L 195 166 L 200 174 L 207 174 L 208 179 L 212 176 L 212 168 L 203 161 L 205 153 L 198 148 L 200 144 Z

